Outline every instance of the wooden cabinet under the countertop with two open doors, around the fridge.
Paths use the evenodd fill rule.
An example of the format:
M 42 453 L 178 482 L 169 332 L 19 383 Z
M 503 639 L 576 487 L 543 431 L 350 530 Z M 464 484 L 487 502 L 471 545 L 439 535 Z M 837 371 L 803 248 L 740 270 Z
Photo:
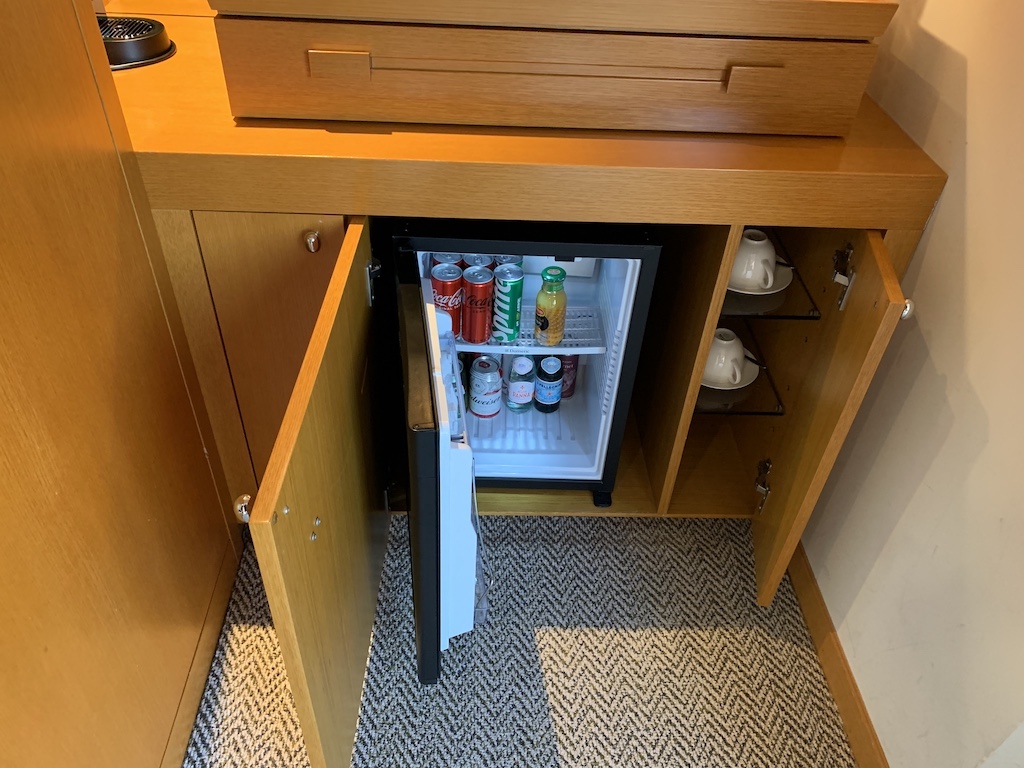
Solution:
M 250 524 L 303 732 L 314 765 L 340 764 L 356 723 L 386 519 L 373 459 L 374 439 L 384 435 L 372 422 L 368 365 L 372 345 L 388 342 L 371 334 L 370 223 L 194 217 L 261 478 Z M 303 246 L 314 220 L 319 254 Z M 751 518 L 758 599 L 771 601 L 904 299 L 881 232 L 773 228 L 814 310 L 801 318 L 723 317 L 733 311 L 726 287 L 742 230 L 662 230 L 635 419 L 612 507 L 598 509 L 581 492 L 490 489 L 481 494 L 484 512 Z M 837 252 L 849 256 L 844 268 L 855 274 L 842 308 Z M 309 259 L 321 261 L 303 278 L 306 267 L 297 263 Z M 264 314 L 253 318 L 255 307 Z M 780 410 L 699 413 L 711 339 L 728 322 L 741 323 L 756 345 Z M 266 381 L 247 388 L 253 382 L 243 380 L 261 374 Z M 263 452 L 267 458 L 257 459 Z

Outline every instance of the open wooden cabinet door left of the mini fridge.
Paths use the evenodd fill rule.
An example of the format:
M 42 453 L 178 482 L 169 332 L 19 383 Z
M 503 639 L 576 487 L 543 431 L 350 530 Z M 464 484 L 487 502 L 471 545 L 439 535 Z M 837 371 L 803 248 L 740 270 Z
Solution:
M 356 219 L 250 520 L 313 766 L 351 759 L 386 527 L 370 431 L 369 261 Z

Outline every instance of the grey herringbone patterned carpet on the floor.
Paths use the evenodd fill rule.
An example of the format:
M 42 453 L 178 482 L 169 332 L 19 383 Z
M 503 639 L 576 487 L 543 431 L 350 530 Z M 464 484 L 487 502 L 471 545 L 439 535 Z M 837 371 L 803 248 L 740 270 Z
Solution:
M 788 581 L 770 608 L 756 605 L 749 523 L 481 525 L 487 622 L 423 687 L 395 518 L 354 768 L 854 765 Z M 306 765 L 253 575 L 247 555 L 186 766 Z

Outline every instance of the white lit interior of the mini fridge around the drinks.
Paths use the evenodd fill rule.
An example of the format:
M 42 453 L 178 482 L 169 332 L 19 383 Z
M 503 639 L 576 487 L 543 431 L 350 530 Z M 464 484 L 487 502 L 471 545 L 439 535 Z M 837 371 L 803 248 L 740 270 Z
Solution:
M 449 316 L 434 310 L 430 252 L 417 252 L 424 313 L 433 318 L 445 367 L 445 401 L 453 435 L 464 434 L 472 447 L 475 475 L 481 478 L 599 480 L 608 447 L 610 422 L 621 377 L 630 313 L 640 274 L 640 259 L 523 257 L 523 308 L 519 338 L 511 343 L 470 344 L 452 335 Z M 534 303 L 541 270 L 556 264 L 566 270 L 565 337 L 557 346 L 534 342 Z M 551 414 L 502 407 L 492 418 L 467 413 L 463 382 L 455 373 L 452 350 L 503 355 L 579 354 L 575 392 Z M 511 359 L 505 358 L 505 361 Z M 467 360 L 468 365 L 468 360 Z

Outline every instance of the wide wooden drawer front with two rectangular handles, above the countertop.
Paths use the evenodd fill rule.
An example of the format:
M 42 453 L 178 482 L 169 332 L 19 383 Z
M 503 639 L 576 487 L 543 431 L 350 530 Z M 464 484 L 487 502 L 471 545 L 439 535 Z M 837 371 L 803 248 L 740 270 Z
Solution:
M 843 135 L 868 42 L 218 16 L 237 117 Z

